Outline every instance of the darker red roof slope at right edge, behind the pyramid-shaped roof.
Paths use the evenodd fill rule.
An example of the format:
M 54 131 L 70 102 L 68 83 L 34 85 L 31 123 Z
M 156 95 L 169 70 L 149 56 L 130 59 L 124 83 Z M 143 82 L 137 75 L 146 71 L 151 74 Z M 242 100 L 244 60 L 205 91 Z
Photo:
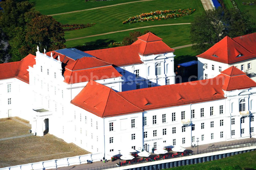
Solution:
M 249 52 L 256 55 L 256 32 L 232 39 L 247 49 Z

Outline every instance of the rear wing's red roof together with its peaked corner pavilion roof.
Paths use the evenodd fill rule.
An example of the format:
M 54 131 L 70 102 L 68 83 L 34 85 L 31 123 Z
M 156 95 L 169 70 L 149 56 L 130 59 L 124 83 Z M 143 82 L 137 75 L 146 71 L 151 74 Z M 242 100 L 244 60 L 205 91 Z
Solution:
M 101 50 L 84 51 L 100 60 L 111 63 L 115 66 L 125 66 L 132 64 L 141 64 L 141 55 L 161 54 L 174 52 L 168 47 L 161 38 L 155 36 L 151 32 L 138 37 L 130 46 L 114 47 Z

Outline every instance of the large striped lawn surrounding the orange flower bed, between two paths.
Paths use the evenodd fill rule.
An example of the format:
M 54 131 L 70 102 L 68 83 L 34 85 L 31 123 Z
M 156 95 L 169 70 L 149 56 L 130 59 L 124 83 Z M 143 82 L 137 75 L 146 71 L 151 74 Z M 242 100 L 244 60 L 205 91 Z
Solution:
M 195 8 L 196 11 L 189 16 L 161 21 L 138 22 L 130 25 L 122 24 L 122 21 L 125 19 L 140 13 L 164 9 L 184 9 L 190 7 L 193 9 Z M 200 0 L 172 0 L 172 3 L 170 3 L 169 0 L 155 0 L 101 8 L 97 10 L 83 11 L 78 13 L 57 15 L 54 16 L 54 18 L 62 24 L 87 24 L 91 22 L 96 23 L 95 26 L 89 28 L 66 31 L 65 39 L 71 39 L 150 25 L 191 22 L 194 17 L 200 15 L 203 10 L 204 8 Z M 172 30 L 169 31 L 171 32 Z

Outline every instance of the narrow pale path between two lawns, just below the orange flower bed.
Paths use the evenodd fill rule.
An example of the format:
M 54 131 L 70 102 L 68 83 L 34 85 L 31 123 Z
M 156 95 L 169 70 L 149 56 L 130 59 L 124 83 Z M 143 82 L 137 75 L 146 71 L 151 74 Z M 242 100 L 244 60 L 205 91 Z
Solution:
M 102 35 L 107 35 L 107 34 L 112 34 L 112 33 L 117 33 L 117 32 L 124 32 L 124 31 L 131 31 L 131 30 L 142 29 L 142 28 L 161 27 L 161 26 L 170 26 L 170 25 L 187 25 L 187 24 L 191 24 L 191 23 L 163 24 L 163 25 L 151 25 L 151 26 L 145 26 L 145 27 L 130 28 L 130 29 L 125 29 L 125 30 L 120 30 L 120 31 L 106 32 L 106 33 L 96 34 L 96 35 L 91 35 L 91 36 L 78 37 L 78 38 L 71 38 L 71 39 L 67 39 L 66 41 L 78 40 L 78 39 L 89 38 L 89 37 L 96 37 L 96 36 L 102 36 Z

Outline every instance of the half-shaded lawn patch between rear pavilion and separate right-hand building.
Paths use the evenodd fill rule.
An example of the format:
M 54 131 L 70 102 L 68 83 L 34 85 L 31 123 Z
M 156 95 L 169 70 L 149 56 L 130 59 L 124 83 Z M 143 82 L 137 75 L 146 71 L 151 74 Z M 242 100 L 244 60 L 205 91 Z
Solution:
M 180 63 L 185 63 L 188 61 L 196 60 L 196 52 L 191 49 L 191 47 L 185 47 L 175 50 L 174 54 L 174 66 Z

